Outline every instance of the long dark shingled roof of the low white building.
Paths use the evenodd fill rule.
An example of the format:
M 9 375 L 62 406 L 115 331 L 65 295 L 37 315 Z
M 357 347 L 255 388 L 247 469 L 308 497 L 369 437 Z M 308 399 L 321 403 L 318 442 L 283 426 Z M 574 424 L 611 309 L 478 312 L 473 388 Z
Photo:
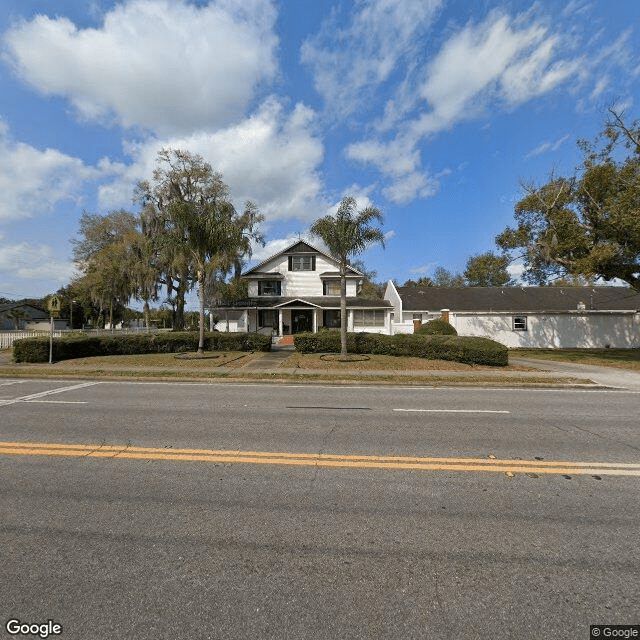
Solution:
M 398 287 L 404 311 L 593 311 L 640 310 L 629 287 Z

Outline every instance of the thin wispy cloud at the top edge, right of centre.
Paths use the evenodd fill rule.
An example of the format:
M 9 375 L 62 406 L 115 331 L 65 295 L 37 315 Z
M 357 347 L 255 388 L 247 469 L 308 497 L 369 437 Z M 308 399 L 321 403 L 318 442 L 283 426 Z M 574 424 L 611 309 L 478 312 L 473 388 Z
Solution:
M 317 91 L 331 110 L 352 113 L 368 87 L 385 82 L 414 51 L 434 21 L 442 0 L 360 0 L 349 25 L 328 20 L 304 42 L 303 63 L 314 72 Z

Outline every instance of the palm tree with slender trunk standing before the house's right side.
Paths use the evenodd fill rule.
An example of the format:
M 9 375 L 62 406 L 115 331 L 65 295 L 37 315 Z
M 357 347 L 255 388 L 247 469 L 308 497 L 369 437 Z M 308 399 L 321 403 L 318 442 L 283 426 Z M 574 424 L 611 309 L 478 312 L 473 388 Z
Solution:
M 340 357 L 347 356 L 347 268 L 349 256 L 362 253 L 379 242 L 384 248 L 384 234 L 371 223 L 382 223 L 382 213 L 375 207 L 357 210 L 356 200 L 343 198 L 335 216 L 326 215 L 313 223 L 311 233 L 322 239 L 340 265 Z

